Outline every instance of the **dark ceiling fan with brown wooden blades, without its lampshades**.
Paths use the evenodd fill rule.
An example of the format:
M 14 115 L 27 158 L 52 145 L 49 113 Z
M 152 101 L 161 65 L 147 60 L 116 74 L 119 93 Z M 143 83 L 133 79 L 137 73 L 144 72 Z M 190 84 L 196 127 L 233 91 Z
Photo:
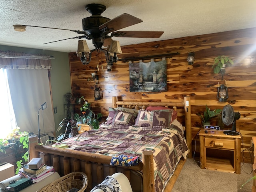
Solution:
M 164 32 L 163 31 L 117 31 L 122 28 L 126 28 L 128 26 L 132 26 L 142 22 L 141 19 L 136 18 L 130 14 L 121 14 L 114 19 L 109 19 L 101 16 L 101 14 L 106 10 L 106 6 L 102 4 L 88 4 L 85 6 L 86 10 L 92 14 L 90 17 L 86 17 L 82 19 L 82 27 L 83 30 L 69 30 L 69 29 L 61 29 L 61 28 L 51 28 L 51 27 L 42 27 L 42 26 L 32 26 L 32 25 L 14 25 L 14 30 L 16 31 L 25 31 L 26 27 L 38 27 L 38 28 L 50 28 L 50 29 L 58 29 L 58 30 L 69 30 L 72 32 L 76 32 L 78 34 L 82 34 L 81 36 L 76 36 L 67 39 L 88 39 L 92 40 L 92 44 L 95 49 L 90 50 L 93 52 L 97 50 L 100 52 L 101 50 L 105 52 L 107 62 L 112 63 L 116 62 L 113 58 L 109 58 L 108 51 L 102 49 L 102 46 L 108 46 L 112 42 L 112 37 L 133 37 L 133 38 L 159 38 Z M 62 40 L 56 40 L 48 43 L 58 42 Z M 44 44 L 48 44 L 44 43 Z M 86 44 L 87 45 L 87 44 Z M 87 54 L 88 55 L 88 54 Z M 86 57 L 86 54 L 85 54 Z M 89 59 L 90 60 L 90 59 Z M 88 60 L 86 61 L 88 62 Z M 90 62 L 90 61 L 89 61 Z M 88 63 L 89 63 L 88 62 Z M 83 63 L 83 64 L 88 64 Z

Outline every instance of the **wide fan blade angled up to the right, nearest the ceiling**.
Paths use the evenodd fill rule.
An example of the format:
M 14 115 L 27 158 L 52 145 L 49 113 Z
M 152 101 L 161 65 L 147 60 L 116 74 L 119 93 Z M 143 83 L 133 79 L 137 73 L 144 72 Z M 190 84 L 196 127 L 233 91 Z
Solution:
M 122 15 L 114 19 L 111 19 L 110 21 L 99 26 L 99 29 L 102 30 L 103 28 L 107 27 L 109 32 L 113 32 L 122 28 L 126 28 L 131 25 L 135 25 L 140 22 L 142 22 L 141 19 L 134 17 L 130 14 L 123 13 Z

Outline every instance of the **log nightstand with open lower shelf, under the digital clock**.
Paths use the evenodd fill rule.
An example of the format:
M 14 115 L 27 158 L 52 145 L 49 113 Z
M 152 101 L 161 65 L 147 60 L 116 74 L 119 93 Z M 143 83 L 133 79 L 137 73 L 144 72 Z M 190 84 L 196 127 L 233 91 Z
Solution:
M 239 129 L 237 129 L 239 132 Z M 240 174 L 241 136 L 200 130 L 201 168 Z

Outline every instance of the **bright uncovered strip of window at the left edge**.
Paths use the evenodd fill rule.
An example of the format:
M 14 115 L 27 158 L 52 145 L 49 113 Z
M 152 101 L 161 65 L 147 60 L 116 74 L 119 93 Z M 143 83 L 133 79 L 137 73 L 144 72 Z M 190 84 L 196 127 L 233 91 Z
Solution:
M 2 120 L 0 138 L 5 138 L 12 129 L 17 127 L 14 110 L 12 107 L 12 99 L 8 84 L 6 69 L 0 69 L 0 117 Z

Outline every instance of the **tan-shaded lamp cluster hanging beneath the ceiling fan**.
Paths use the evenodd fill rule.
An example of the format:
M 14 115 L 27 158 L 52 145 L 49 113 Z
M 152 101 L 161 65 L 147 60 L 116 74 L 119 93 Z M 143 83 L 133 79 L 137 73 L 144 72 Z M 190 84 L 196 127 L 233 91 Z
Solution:
M 114 62 L 117 62 L 117 54 L 122 53 L 119 41 L 112 41 L 110 46 L 108 46 L 107 50 L 102 49 L 101 46 L 100 48 L 90 50 L 86 43 L 86 40 L 78 40 L 78 48 L 76 55 L 80 57 L 82 64 L 85 65 L 90 63 L 92 52 L 96 50 L 97 52 L 102 51 L 105 53 L 107 64 L 113 64 Z

